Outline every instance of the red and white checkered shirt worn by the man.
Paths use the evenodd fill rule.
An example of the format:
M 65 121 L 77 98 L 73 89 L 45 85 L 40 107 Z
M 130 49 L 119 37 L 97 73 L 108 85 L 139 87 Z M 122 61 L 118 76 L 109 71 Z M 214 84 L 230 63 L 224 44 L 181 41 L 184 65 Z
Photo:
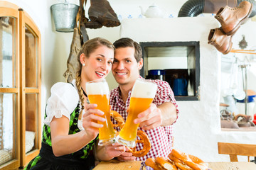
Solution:
M 142 78 L 142 77 L 140 77 Z M 143 79 L 143 78 L 142 78 Z M 176 104 L 176 100 L 174 98 L 174 92 L 171 90 L 171 87 L 166 81 L 161 80 L 150 80 L 158 85 L 156 96 L 153 100 L 153 103 L 156 104 L 156 106 L 161 105 L 164 102 L 171 102 L 174 103 L 174 106 L 176 106 L 176 113 L 178 116 L 178 108 Z M 113 89 L 110 92 L 110 105 L 112 106 L 113 111 L 117 111 L 122 115 L 124 118 L 124 121 L 127 120 L 127 108 L 129 106 L 129 101 L 131 97 L 131 91 L 129 91 L 129 96 L 127 98 L 127 102 L 124 103 L 122 100 L 121 94 L 120 94 L 119 86 L 116 89 Z M 117 123 L 112 118 L 113 123 Z M 142 128 L 138 128 L 138 130 L 142 130 Z M 146 134 L 149 136 L 149 140 L 151 143 L 151 149 L 149 150 L 149 153 L 146 154 L 144 157 L 137 157 L 137 161 L 145 161 L 147 158 L 152 157 L 167 157 L 168 154 L 171 152 L 172 144 L 173 144 L 173 131 L 172 131 L 172 125 L 168 125 L 165 127 L 157 127 L 151 130 L 143 130 L 146 132 Z M 141 150 L 143 148 L 143 145 L 141 143 L 137 144 L 137 150 Z

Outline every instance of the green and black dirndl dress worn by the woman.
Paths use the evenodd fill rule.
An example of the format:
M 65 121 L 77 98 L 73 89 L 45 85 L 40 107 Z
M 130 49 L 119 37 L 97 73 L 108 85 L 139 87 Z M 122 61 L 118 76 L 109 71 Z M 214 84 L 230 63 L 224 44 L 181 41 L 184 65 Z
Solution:
M 80 104 L 75 108 L 75 111 L 70 114 L 70 130 L 69 134 L 75 134 L 80 132 L 78 128 L 78 116 L 80 113 Z M 46 117 L 46 114 L 45 114 Z M 95 140 L 92 140 L 85 147 L 80 149 L 73 154 L 66 154 L 61 157 L 55 157 L 53 154 L 53 149 L 51 145 L 50 137 L 50 126 L 43 125 L 43 137 L 42 137 L 42 147 L 40 153 L 31 162 L 28 163 L 24 170 L 90 170 L 95 167 L 95 159 L 92 154 L 92 147 L 95 145 Z

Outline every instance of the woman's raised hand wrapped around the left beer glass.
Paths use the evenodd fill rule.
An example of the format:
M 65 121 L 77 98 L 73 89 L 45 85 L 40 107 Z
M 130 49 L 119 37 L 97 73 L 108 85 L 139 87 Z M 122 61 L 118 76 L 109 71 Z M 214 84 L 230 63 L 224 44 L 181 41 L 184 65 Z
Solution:
M 104 112 L 95 109 L 97 104 L 87 104 L 85 106 L 85 114 L 82 115 L 82 127 L 85 129 L 87 135 L 92 135 L 93 137 L 97 137 L 99 133 L 99 128 L 102 128 L 103 125 L 98 123 L 105 122 L 105 118 L 102 118 Z

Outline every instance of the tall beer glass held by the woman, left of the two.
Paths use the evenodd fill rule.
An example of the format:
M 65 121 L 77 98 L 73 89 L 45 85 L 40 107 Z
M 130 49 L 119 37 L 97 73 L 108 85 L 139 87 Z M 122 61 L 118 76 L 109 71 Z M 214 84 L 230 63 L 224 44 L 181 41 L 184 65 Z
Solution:
M 110 89 L 105 79 L 97 79 L 86 83 L 86 94 L 90 103 L 96 103 L 97 108 L 104 112 L 102 118 L 105 122 L 98 121 L 103 127 L 99 128 L 99 144 L 110 145 L 115 142 L 115 132 L 110 120 Z

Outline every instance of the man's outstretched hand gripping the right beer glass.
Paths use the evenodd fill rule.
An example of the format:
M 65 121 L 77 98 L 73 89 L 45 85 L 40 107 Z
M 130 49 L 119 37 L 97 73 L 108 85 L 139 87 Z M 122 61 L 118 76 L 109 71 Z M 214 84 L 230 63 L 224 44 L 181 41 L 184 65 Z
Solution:
M 139 113 L 138 118 L 134 119 L 134 123 L 139 123 L 139 127 L 143 130 L 150 130 L 160 126 L 163 122 L 161 110 L 151 103 L 149 108 Z

